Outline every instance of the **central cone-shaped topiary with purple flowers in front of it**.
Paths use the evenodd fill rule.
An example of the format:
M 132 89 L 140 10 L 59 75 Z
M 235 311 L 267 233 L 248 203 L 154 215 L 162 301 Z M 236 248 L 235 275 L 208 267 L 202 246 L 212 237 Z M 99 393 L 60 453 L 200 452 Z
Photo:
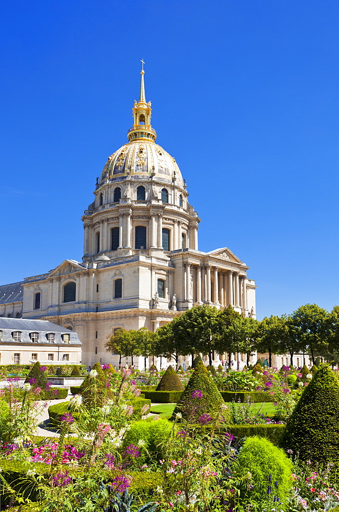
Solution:
M 184 417 L 190 415 L 190 421 L 198 422 L 203 414 L 213 416 L 222 405 L 225 405 L 223 397 L 218 392 L 203 361 L 199 361 L 173 411 L 172 418 L 175 418 L 176 413 L 182 413 Z M 193 410 L 191 406 L 193 406 Z M 227 411 L 225 415 L 227 415 Z

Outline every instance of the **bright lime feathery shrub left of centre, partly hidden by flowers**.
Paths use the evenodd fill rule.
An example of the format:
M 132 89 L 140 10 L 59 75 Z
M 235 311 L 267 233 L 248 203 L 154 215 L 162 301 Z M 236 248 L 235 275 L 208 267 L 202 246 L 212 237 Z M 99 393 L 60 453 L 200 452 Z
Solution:
M 153 463 L 164 458 L 161 443 L 169 437 L 172 428 L 173 424 L 167 419 L 135 421 L 125 434 L 123 447 L 129 444 L 137 445 L 142 439 L 145 446 L 140 450 L 141 460 L 143 463 Z

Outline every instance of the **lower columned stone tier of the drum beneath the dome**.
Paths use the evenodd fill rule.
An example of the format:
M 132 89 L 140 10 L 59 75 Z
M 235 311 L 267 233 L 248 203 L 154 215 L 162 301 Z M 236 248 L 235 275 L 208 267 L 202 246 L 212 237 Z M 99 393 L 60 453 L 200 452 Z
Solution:
M 119 213 L 118 226 L 116 221 L 114 225 L 109 224 L 108 219 L 99 221 L 95 226 L 84 223 L 84 254 L 95 254 L 97 252 L 96 237 L 99 237 L 99 252 L 110 251 L 111 229 L 114 227 L 119 228 L 118 248 L 132 248 L 132 227 L 138 225 L 145 226 L 148 229 L 146 245 L 151 249 L 163 248 L 163 227 L 166 227 L 170 231 L 170 251 L 181 249 L 183 246 L 197 250 L 197 224 L 190 225 L 184 220 L 169 220 L 167 218 L 164 221 L 163 214 L 158 212 L 151 212 L 149 217 L 142 217 L 141 220 L 138 220 L 137 217 L 133 218 L 130 210 Z

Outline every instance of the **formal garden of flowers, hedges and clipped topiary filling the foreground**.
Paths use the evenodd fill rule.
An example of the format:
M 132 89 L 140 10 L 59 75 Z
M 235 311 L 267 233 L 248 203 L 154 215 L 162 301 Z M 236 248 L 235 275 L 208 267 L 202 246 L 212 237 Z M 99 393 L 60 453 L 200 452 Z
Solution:
M 174 343 L 161 329 L 157 343 Z M 2 368 L 1 509 L 338 512 L 339 380 L 319 339 L 301 368 L 234 371 L 200 355 L 186 371 L 175 358 L 166 371 Z M 55 372 L 82 383 L 53 389 Z

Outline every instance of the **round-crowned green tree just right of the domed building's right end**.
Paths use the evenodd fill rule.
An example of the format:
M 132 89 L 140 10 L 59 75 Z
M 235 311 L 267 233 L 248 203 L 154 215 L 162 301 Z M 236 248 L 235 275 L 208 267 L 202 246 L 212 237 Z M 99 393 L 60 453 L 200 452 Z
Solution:
M 265 316 L 257 326 L 255 348 L 261 354 L 268 352 L 268 364 L 272 367 L 272 353 L 283 354 L 281 344 L 281 331 L 283 322 L 280 316 Z

